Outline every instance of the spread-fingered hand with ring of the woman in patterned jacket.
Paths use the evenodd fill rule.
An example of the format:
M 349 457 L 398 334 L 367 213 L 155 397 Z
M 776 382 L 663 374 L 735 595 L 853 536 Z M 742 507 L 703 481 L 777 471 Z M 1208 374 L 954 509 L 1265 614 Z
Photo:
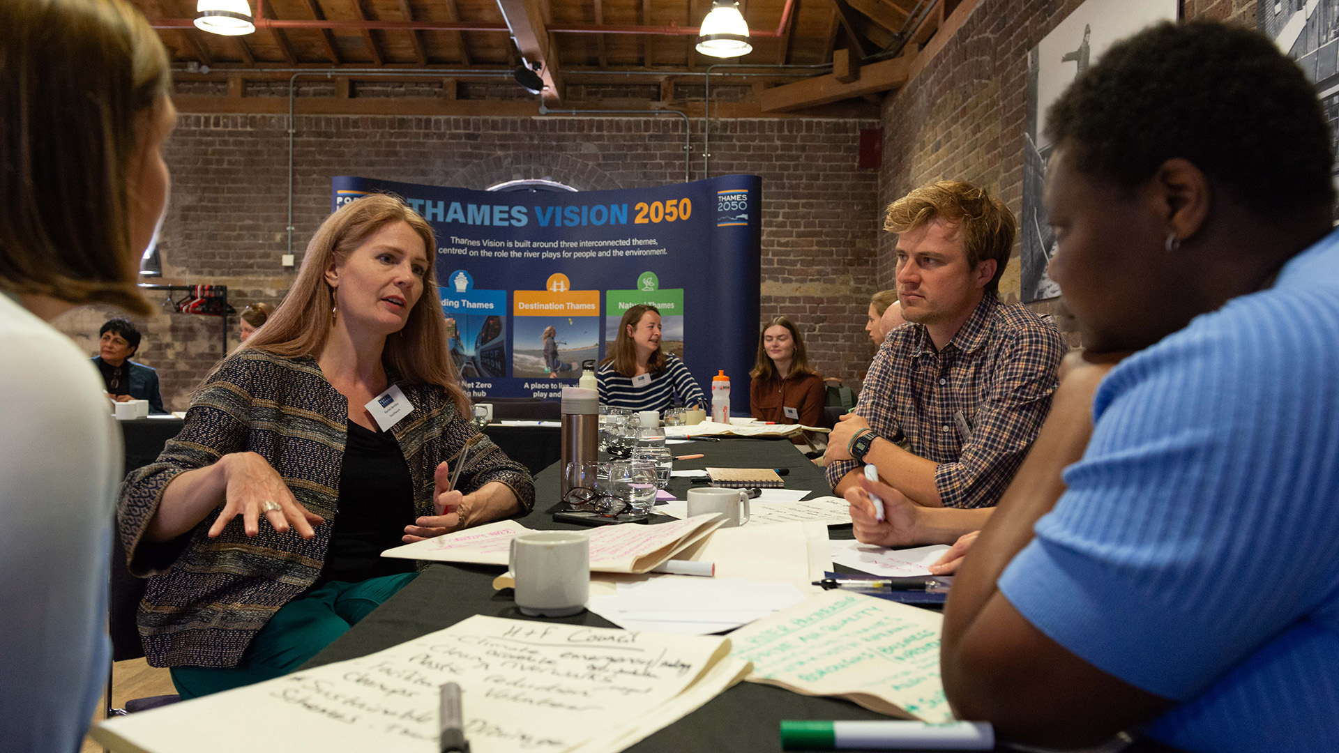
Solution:
M 265 458 L 256 453 L 233 453 L 224 456 L 220 462 L 228 464 L 225 466 L 228 484 L 224 509 L 218 513 L 218 520 L 209 527 L 210 539 L 222 533 L 238 515 L 242 516 L 242 531 L 248 536 L 260 533 L 261 517 L 280 533 L 292 527 L 303 539 L 316 536 L 312 527 L 324 523 L 325 519 L 304 508 Z M 279 505 L 279 509 L 265 509 L 273 505 Z

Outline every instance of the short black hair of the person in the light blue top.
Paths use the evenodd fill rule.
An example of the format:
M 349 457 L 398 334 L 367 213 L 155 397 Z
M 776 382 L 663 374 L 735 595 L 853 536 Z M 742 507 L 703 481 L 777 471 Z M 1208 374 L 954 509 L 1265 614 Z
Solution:
M 1113 44 L 1051 106 L 1047 135 L 1081 172 L 1127 190 L 1180 157 L 1265 220 L 1335 202 L 1315 86 L 1237 25 L 1164 21 Z

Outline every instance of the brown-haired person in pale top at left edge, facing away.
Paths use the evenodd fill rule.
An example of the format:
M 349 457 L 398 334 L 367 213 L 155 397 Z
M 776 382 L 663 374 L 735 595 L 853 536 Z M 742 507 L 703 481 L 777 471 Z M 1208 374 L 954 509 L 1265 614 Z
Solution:
M 88 356 L 46 322 L 147 316 L 135 281 L 167 202 L 167 51 L 123 0 L 0 3 L 0 730 L 79 748 L 110 666 L 121 434 Z

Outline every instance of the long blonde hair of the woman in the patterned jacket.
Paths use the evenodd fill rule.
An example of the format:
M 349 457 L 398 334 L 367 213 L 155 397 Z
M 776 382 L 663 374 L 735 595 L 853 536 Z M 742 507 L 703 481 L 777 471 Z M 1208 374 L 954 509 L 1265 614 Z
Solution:
M 237 351 L 253 348 L 288 358 L 320 355 L 335 326 L 335 289 L 325 281 L 325 271 L 331 263 L 343 264 L 349 253 L 391 222 L 404 222 L 418 233 L 430 261 L 423 275 L 423 295 L 410 310 L 404 328 L 386 339 L 382 363 L 407 383 L 442 387 L 457 413 L 470 415 L 470 398 L 451 362 L 446 316 L 435 295 L 437 265 L 431 259 L 437 253 L 437 237 L 418 212 L 392 196 L 366 196 L 327 217 L 307 244 L 303 265 L 284 301 Z

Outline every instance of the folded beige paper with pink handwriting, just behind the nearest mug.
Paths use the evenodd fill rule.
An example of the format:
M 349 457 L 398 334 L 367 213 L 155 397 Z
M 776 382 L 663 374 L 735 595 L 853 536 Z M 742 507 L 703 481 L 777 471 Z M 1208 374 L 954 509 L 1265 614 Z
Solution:
M 719 513 L 688 520 L 641 525 L 604 525 L 589 533 L 592 572 L 647 572 L 682 549 L 720 528 Z M 415 541 L 382 552 L 383 557 L 506 565 L 511 539 L 530 529 L 514 520 L 501 520 L 435 539 Z

